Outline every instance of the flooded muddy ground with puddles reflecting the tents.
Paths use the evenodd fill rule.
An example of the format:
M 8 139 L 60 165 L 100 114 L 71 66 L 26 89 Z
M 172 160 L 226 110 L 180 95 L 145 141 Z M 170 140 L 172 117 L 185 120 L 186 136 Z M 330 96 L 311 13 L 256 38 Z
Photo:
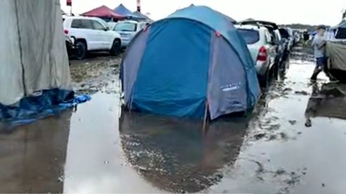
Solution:
M 122 113 L 120 57 L 71 62 L 91 101 L 0 135 L 0 193 L 334 193 L 346 191 L 345 86 L 311 84 L 293 50 L 253 115 L 212 122 Z

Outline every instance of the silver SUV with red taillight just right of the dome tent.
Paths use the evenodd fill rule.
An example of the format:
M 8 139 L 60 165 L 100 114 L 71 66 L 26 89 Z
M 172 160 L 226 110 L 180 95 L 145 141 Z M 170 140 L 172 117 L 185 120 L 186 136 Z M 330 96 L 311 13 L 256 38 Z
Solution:
M 255 63 L 260 85 L 266 86 L 277 57 L 277 47 L 271 33 L 268 28 L 260 25 L 236 25 L 235 27 L 246 41 Z

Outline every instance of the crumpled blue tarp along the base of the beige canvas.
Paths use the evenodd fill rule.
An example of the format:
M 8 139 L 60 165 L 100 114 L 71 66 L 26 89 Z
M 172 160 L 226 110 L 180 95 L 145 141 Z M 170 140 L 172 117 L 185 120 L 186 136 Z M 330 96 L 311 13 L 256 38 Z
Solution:
M 28 124 L 89 101 L 89 95 L 75 96 L 71 90 L 43 90 L 35 97 L 24 97 L 14 106 L 0 104 L 0 122 L 9 125 Z

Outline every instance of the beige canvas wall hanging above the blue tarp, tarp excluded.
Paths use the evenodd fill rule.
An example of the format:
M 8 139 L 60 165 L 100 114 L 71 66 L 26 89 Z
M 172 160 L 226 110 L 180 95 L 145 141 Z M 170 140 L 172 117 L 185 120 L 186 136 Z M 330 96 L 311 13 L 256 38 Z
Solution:
M 0 104 L 72 89 L 59 0 L 1 0 L 0 26 Z

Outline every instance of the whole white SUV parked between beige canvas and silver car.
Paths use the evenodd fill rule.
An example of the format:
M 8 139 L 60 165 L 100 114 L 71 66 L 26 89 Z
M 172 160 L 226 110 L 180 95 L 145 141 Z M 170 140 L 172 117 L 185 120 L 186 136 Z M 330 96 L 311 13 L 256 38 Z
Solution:
M 66 17 L 64 32 L 75 38 L 77 59 L 84 59 L 87 51 L 107 50 L 117 55 L 122 47 L 119 33 L 109 30 L 107 23 L 96 17 Z

